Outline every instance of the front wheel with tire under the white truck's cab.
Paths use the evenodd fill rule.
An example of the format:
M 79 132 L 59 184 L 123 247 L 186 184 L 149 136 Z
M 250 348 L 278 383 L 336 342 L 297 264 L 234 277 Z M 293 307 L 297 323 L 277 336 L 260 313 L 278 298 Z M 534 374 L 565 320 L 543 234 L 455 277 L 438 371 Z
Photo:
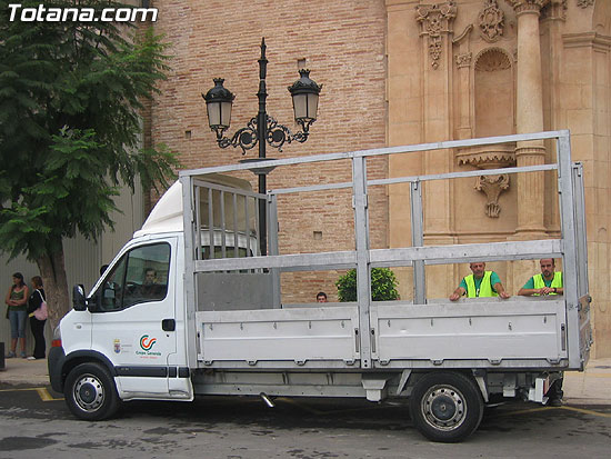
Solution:
M 87 421 L 108 419 L 120 405 L 114 380 L 100 363 L 74 367 L 66 378 L 63 395 L 72 415 Z

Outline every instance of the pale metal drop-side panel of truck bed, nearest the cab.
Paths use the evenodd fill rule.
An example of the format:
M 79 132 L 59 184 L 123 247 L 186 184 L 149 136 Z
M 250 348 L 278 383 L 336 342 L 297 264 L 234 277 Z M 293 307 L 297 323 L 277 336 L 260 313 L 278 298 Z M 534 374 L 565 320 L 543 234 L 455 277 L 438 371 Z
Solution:
M 303 366 L 312 360 L 352 366 L 360 358 L 355 306 L 199 311 L 196 317 L 198 360 L 204 366 L 252 367 L 260 361 Z

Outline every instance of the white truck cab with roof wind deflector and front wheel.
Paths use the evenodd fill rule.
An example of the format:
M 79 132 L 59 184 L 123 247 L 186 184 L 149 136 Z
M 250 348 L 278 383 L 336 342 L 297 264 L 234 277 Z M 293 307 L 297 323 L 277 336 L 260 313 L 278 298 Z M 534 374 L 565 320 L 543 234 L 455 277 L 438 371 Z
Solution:
M 248 181 L 232 177 L 201 179 L 213 186 L 251 189 Z M 203 197 L 200 213 L 208 217 L 208 207 L 214 201 L 219 206 L 219 197 L 218 192 Z M 231 209 L 233 201 L 227 204 Z M 182 208 L 177 181 L 91 292 L 86 297 L 81 286 L 74 287 L 74 308 L 60 322 L 57 333 L 62 346 L 51 349 L 49 368 L 53 389 L 68 393 L 69 407 L 78 417 L 104 418 L 119 399 L 193 399 L 183 308 Z M 204 259 L 258 252 L 257 238 L 250 235 L 253 223 L 247 221 L 248 204 L 240 210 L 232 221 L 239 228 L 228 224 L 222 231 L 208 231 L 214 227 L 213 218 L 212 224 L 202 218 L 200 252 Z

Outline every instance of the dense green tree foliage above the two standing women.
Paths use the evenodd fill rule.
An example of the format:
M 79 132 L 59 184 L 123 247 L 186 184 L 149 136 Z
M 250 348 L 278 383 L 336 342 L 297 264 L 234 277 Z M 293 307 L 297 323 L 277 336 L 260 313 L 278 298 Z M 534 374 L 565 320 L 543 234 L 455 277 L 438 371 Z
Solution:
M 133 190 L 140 177 L 144 187 L 166 187 L 173 176 L 173 153 L 140 148 L 140 110 L 166 78 L 169 58 L 150 29 L 9 21 L 9 3 L 0 0 L 0 250 L 24 253 L 41 271 L 49 261 L 48 282 L 63 271 L 56 266 L 62 239 L 80 232 L 94 240 L 112 228 L 120 183 Z M 119 6 L 21 1 L 39 3 Z

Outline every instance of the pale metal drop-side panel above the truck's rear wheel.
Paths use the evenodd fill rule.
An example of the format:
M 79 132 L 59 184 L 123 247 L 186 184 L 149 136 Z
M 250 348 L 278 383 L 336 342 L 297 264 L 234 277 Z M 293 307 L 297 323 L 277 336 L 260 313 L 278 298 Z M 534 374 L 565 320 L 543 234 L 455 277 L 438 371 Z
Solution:
M 489 361 L 565 359 L 564 302 L 494 300 L 372 306 L 374 360 Z

